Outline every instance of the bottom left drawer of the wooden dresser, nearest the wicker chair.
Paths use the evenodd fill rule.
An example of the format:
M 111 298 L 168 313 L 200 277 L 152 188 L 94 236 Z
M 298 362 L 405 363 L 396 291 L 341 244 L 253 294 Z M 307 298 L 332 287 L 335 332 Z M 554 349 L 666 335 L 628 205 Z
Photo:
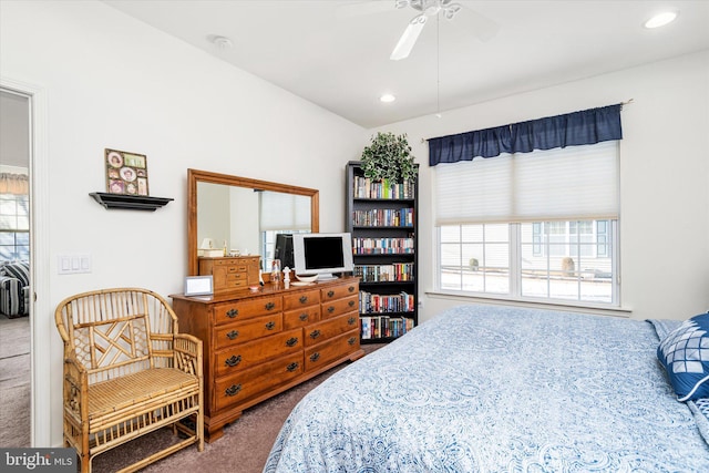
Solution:
M 244 402 L 302 374 L 302 352 L 261 363 L 240 373 L 215 381 L 213 400 L 216 409 Z

